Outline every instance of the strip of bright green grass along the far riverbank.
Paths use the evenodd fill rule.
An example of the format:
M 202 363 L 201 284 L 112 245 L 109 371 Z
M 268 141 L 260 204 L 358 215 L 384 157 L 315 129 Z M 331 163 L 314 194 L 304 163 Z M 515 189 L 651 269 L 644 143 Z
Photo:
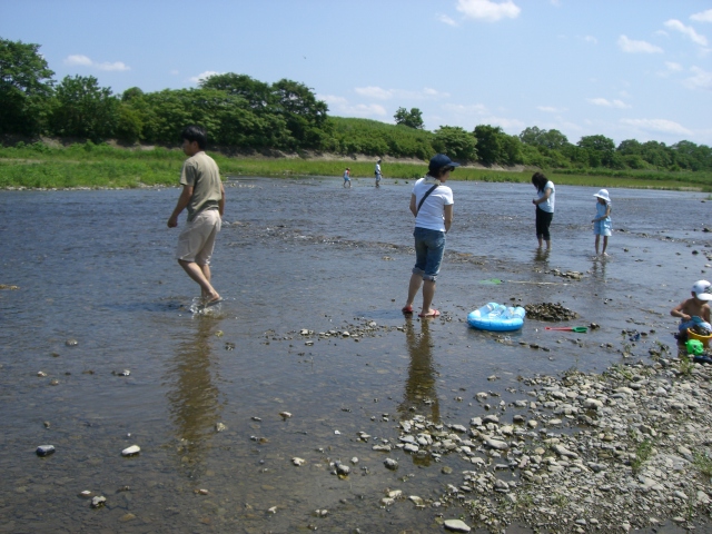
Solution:
M 209 152 L 224 175 L 234 176 L 334 176 L 340 177 L 346 167 L 354 178 L 373 178 L 373 161 L 322 160 L 303 158 L 243 158 Z M 176 185 L 185 156 L 180 150 L 155 148 L 128 150 L 106 145 L 72 145 L 50 148 L 46 145 L 0 147 L 0 188 L 134 188 Z M 384 176 L 395 179 L 416 179 L 427 165 L 384 161 Z M 655 189 L 693 189 L 712 192 L 712 172 L 651 172 L 610 170 L 548 171 L 547 176 L 561 185 L 591 187 L 629 187 Z M 482 168 L 459 168 L 454 180 L 528 182 L 531 170 L 505 171 Z

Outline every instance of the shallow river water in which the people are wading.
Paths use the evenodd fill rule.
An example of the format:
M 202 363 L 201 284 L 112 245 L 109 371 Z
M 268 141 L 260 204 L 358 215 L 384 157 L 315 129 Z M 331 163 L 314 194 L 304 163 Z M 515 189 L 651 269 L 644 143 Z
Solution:
M 437 498 L 452 482 L 443 464 L 396 452 L 390 472 L 375 439 L 414 414 L 466 425 L 478 392 L 522 398 L 520 376 L 650 362 L 651 347 L 674 346 L 670 308 L 712 276 L 706 195 L 610 188 L 617 231 L 603 261 L 595 189 L 557 187 L 543 255 L 533 187 L 451 185 L 443 317 L 428 322 L 399 312 L 414 263 L 404 180 L 231 180 L 212 260 L 226 300 L 208 315 L 190 312 L 198 288 L 166 228 L 178 189 L 1 191 L 0 284 L 18 289 L 0 290 L 0 532 L 442 528 L 437 514 L 455 510 L 379 501 L 386 488 Z M 580 315 L 568 325 L 601 328 L 527 319 L 498 343 L 465 323 L 487 301 L 561 303 Z M 43 444 L 57 452 L 38 457 Z M 122 457 L 134 444 L 141 453 Z M 332 474 L 353 457 L 350 475 Z

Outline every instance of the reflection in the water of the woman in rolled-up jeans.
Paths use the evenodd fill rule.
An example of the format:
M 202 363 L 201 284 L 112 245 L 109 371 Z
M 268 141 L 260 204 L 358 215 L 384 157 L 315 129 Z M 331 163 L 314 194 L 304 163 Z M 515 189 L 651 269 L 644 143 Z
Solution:
M 398 406 L 400 418 L 424 415 L 435 424 L 441 421 L 441 407 L 435 387 L 438 375 L 433 366 L 433 342 L 428 320 L 421 320 L 421 332 L 416 332 L 417 322 L 407 320 L 405 329 L 406 345 L 411 355 L 408 377 L 405 380 L 403 403 Z

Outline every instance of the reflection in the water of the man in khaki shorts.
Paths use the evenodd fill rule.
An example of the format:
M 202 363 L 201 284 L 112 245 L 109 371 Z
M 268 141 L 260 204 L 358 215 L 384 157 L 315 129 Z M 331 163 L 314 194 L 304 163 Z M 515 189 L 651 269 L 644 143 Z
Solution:
M 191 478 L 198 478 L 205 469 L 219 422 L 219 390 L 212 383 L 211 369 L 217 357 L 210 349 L 218 325 L 212 317 L 195 317 L 192 332 L 178 344 L 168 372 L 169 411 L 180 441 L 177 452 L 184 472 Z

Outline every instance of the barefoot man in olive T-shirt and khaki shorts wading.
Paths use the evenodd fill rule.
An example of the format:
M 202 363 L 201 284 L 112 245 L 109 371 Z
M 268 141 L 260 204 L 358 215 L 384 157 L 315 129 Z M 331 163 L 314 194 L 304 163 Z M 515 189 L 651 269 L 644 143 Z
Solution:
M 202 304 L 209 307 L 222 300 L 210 283 L 210 257 L 225 212 L 225 188 L 217 164 L 205 154 L 208 144 L 206 130 L 188 126 L 180 137 L 188 159 L 180 171 L 182 191 L 168 219 L 168 228 L 178 226 L 178 216 L 187 208 L 188 219 L 178 237 L 176 258 L 200 286 Z

